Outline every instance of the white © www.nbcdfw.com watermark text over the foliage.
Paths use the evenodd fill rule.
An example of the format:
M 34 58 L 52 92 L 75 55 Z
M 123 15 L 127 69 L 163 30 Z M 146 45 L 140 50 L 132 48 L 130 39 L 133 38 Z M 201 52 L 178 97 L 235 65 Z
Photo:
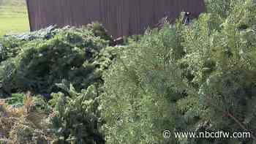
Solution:
M 166 139 L 175 138 L 251 138 L 251 132 L 173 132 L 165 130 L 162 136 Z

